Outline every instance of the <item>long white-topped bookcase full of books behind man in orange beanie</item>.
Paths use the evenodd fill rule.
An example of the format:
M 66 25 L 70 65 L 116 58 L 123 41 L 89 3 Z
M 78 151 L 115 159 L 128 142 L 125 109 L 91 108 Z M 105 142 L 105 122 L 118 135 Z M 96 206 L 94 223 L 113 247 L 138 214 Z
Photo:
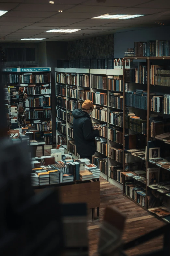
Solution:
M 122 182 L 120 182 L 120 169 L 123 168 L 120 163 L 123 159 L 121 140 L 123 109 L 120 109 L 123 102 L 123 69 L 55 68 L 55 74 L 57 143 L 65 148 L 65 152 L 73 153 L 74 157 L 78 158 L 74 144 L 72 110 L 81 108 L 84 100 L 92 100 L 95 106 L 92 112 L 92 124 L 106 123 L 100 136 L 95 138 L 97 152 L 92 162 L 101 170 L 101 176 L 104 179 L 109 179 L 112 184 L 123 189 Z M 115 158 L 118 161 L 112 155 L 113 147 L 116 149 L 115 156 L 120 155 Z M 110 176 L 113 164 L 119 166 L 115 180 Z

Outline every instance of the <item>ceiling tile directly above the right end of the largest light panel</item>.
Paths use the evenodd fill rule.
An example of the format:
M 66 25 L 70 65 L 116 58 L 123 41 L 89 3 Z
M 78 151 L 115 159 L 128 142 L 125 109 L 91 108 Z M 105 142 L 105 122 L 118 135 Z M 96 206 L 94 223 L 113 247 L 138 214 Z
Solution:
M 139 7 L 128 7 L 125 9 L 121 9 L 122 14 L 153 14 L 161 11 L 165 11 L 165 9 L 139 8 Z

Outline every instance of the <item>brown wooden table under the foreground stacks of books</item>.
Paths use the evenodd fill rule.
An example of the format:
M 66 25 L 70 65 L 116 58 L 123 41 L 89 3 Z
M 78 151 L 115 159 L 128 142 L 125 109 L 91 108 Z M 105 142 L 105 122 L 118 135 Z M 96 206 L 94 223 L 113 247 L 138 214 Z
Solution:
M 56 185 L 35 187 L 35 193 L 42 189 L 59 189 L 61 203 L 86 203 L 87 209 L 92 209 L 92 219 L 94 210 L 97 208 L 97 217 L 99 217 L 100 207 L 100 181 L 78 181 L 70 183 L 60 183 Z

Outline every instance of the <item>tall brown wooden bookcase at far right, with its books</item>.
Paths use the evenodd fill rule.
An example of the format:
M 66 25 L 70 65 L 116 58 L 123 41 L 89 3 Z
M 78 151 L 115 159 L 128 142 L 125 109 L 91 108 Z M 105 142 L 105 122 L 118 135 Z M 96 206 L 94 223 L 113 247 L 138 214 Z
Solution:
M 170 222 L 170 57 L 127 59 L 133 65 L 123 69 L 123 195 Z

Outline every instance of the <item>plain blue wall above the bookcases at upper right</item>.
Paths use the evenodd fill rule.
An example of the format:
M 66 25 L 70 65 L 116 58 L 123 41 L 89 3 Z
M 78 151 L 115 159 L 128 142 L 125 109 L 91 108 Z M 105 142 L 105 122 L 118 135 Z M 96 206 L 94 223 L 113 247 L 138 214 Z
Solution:
M 114 57 L 124 57 L 127 48 L 133 48 L 134 42 L 147 40 L 170 40 L 170 26 L 139 29 L 114 34 Z

